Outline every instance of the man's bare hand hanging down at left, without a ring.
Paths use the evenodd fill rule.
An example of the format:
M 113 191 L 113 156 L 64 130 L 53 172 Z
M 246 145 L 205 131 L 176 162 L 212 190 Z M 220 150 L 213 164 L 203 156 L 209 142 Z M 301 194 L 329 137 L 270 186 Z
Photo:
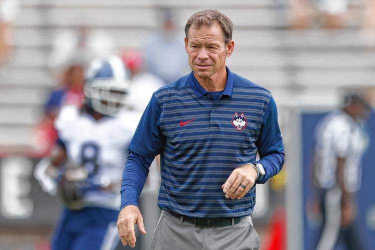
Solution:
M 123 245 L 135 247 L 134 224 L 138 224 L 140 233 L 146 234 L 139 208 L 135 205 L 127 205 L 121 209 L 117 219 L 118 235 Z

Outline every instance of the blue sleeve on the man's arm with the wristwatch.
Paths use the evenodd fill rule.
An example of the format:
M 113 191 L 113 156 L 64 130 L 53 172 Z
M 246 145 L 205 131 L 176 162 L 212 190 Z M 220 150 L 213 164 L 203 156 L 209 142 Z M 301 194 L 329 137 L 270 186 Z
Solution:
M 265 175 L 259 177 L 256 183 L 265 183 L 270 177 L 276 175 L 281 170 L 284 163 L 284 146 L 277 121 L 276 103 L 272 96 L 264 112 L 256 146 L 260 156 L 259 161 L 256 162 L 261 163 L 265 170 Z

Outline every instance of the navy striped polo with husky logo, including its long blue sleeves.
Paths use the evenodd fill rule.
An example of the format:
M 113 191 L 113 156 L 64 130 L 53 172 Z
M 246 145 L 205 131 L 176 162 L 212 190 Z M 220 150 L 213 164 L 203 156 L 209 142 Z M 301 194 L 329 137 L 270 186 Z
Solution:
M 148 166 L 160 154 L 158 206 L 192 217 L 251 214 L 255 185 L 242 199 L 227 199 L 221 185 L 259 153 L 264 183 L 283 163 L 277 110 L 270 92 L 231 73 L 219 98 L 191 72 L 154 92 L 129 145 L 121 183 L 121 209 L 134 204 Z

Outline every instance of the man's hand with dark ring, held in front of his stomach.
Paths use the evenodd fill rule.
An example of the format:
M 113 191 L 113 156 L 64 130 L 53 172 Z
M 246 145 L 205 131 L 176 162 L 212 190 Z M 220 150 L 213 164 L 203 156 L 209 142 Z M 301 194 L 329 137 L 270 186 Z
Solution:
M 256 176 L 256 170 L 249 164 L 244 164 L 234 169 L 221 186 L 225 193 L 225 198 L 241 199 L 254 185 Z

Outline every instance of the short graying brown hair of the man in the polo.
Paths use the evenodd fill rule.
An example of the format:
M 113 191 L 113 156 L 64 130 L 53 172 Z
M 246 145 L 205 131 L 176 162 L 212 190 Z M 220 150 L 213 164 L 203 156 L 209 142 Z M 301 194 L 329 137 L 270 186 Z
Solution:
M 195 12 L 189 17 L 185 25 L 186 39 L 191 26 L 196 28 L 202 25 L 210 27 L 214 21 L 220 24 L 222 32 L 224 33 L 224 42 L 228 43 L 228 41 L 232 39 L 233 23 L 229 17 L 214 8 L 207 8 Z

